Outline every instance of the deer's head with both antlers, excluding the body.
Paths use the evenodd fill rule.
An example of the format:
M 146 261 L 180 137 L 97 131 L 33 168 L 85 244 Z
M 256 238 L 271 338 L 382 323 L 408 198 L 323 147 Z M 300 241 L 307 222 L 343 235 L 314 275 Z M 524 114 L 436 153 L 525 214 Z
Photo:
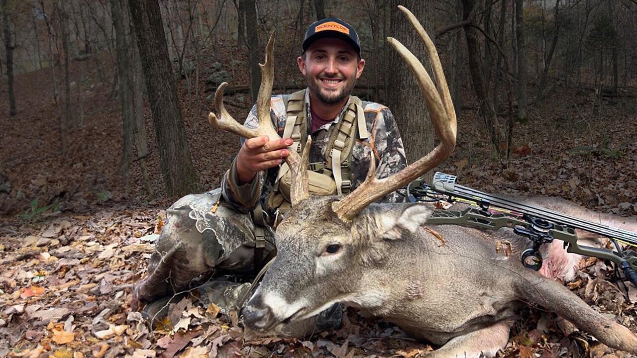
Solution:
M 440 164 L 455 147 L 455 112 L 436 48 L 417 18 L 403 6 L 399 9 L 424 41 L 440 90 L 407 48 L 394 38 L 387 41 L 416 76 L 440 144 L 419 161 L 382 180 L 375 178 L 372 158 L 365 182 L 344 197 L 310 197 L 305 170 L 310 146 L 305 146 L 305 158 L 290 151 L 286 161 L 294 183 L 292 210 L 276 229 L 276 261 L 243 310 L 245 324 L 255 331 L 276 331 L 279 326 L 311 317 L 338 301 L 380 303 L 383 297 L 375 296 L 373 290 L 361 290 L 361 276 L 368 269 L 382 266 L 387 240 L 399 238 L 405 229 L 415 231 L 431 215 L 431 209 L 422 205 L 371 204 Z M 209 115 L 211 124 L 218 129 L 244 138 L 276 135 L 269 117 L 273 38 L 268 42 L 266 63 L 261 65 L 259 130 L 242 127 L 224 110 L 222 95 L 226 83 L 215 94 L 220 119 L 213 113 Z

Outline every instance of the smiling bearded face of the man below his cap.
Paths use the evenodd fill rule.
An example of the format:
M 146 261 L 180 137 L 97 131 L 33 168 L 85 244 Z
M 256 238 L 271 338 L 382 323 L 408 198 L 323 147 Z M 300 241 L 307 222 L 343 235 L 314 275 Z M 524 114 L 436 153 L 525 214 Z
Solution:
M 310 93 L 324 104 L 337 104 L 354 90 L 365 60 L 359 60 L 354 48 L 339 38 L 317 39 L 297 62 Z

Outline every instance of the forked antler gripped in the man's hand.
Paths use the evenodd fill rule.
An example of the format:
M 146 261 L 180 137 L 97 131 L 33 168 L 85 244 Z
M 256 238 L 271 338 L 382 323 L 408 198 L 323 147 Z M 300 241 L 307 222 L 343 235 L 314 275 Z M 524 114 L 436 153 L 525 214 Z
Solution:
M 219 113 L 219 117 L 215 113 L 210 112 L 208 114 L 208 121 L 213 127 L 221 129 L 222 131 L 231 132 L 237 134 L 246 139 L 255 138 L 258 136 L 268 136 L 270 140 L 275 138 L 281 138 L 270 119 L 270 96 L 272 94 L 272 83 L 274 82 L 274 54 L 275 44 L 275 32 L 272 32 L 270 39 L 268 40 L 268 46 L 266 47 L 266 62 L 265 64 L 259 64 L 261 68 L 261 87 L 259 87 L 259 96 L 257 97 L 257 118 L 259 119 L 259 128 L 250 129 L 239 124 L 231 115 L 225 110 L 224 106 L 224 89 L 228 85 L 227 82 L 221 83 L 215 92 L 215 108 Z M 310 138 L 308 138 L 308 143 Z M 309 148 L 309 145 L 306 147 Z M 308 174 L 304 170 L 308 161 L 305 153 L 303 162 L 301 156 L 296 151 L 290 150 L 290 155 L 285 158 L 285 162 L 290 166 L 292 171 L 292 188 L 290 188 L 290 196 L 292 206 L 296 205 L 303 199 L 310 196 L 310 190 L 308 187 Z

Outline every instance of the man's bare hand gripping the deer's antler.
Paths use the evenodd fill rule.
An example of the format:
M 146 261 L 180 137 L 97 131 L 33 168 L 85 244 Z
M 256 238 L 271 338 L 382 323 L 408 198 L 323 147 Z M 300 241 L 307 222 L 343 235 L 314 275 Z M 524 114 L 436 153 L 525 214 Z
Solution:
M 292 138 L 271 141 L 268 136 L 250 138 L 243 142 L 236 161 L 239 184 L 250 183 L 259 171 L 281 164 L 290 155 L 287 147 L 292 143 Z

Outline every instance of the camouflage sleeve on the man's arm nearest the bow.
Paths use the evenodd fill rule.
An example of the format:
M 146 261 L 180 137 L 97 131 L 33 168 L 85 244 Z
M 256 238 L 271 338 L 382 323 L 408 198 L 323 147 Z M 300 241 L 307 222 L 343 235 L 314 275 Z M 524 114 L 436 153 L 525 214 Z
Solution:
M 378 154 L 376 178 L 382 179 L 401 171 L 407 166 L 401 139 L 394 115 L 389 108 L 383 108 L 376 118 L 373 128 L 374 147 Z M 405 197 L 396 191 L 385 196 L 382 203 L 402 203 Z

